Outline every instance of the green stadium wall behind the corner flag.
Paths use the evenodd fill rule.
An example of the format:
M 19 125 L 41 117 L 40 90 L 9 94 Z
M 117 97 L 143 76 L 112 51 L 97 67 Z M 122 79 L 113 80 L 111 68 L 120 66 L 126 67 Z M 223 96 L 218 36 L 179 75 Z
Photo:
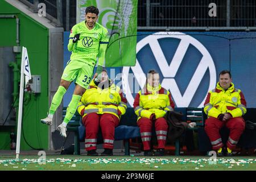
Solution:
M 31 75 L 40 75 L 41 93 L 39 94 L 24 94 L 23 106 L 23 132 L 20 142 L 20 150 L 30 150 L 34 148 L 48 149 L 48 126 L 40 123 L 40 118 L 44 118 L 48 111 L 48 36 L 47 27 L 36 22 L 30 16 L 22 13 L 5 1 L 0 1 L 0 15 L 16 15 L 20 20 L 20 46 L 27 48 L 30 61 Z M 15 19 L 0 19 L 0 47 L 16 46 L 16 20 Z M 20 65 L 21 53 L 16 54 L 16 61 Z M 6 64 L 6 69 L 11 69 Z M 13 82 L 10 82 L 13 84 Z M 10 100 L 13 101 L 13 96 L 10 93 Z M 1 103 L 4 104 L 4 103 Z M 18 110 L 18 107 L 16 108 Z M 6 114 L 7 115 L 7 114 Z M 18 113 L 16 114 L 18 115 Z M 18 120 L 18 118 L 16 119 Z M 0 126 L 0 150 L 10 149 L 10 133 L 11 128 Z M 16 129 L 15 129 L 16 131 Z M 23 137 L 23 135 L 25 135 Z

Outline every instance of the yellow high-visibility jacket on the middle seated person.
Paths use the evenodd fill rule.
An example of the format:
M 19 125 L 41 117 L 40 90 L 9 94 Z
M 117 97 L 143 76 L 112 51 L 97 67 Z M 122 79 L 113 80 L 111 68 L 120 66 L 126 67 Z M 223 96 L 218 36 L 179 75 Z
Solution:
M 134 100 L 134 111 L 138 119 L 150 118 L 155 113 L 156 119 L 164 117 L 167 111 L 174 110 L 174 102 L 171 99 L 171 93 L 159 86 L 152 88 L 147 84 L 147 88 L 139 90 Z

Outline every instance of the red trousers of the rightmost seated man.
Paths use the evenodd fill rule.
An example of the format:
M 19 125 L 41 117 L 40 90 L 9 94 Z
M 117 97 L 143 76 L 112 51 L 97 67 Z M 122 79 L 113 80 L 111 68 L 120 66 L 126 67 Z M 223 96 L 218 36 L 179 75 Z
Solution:
M 236 148 L 236 144 L 245 130 L 245 121 L 242 117 L 230 118 L 228 121 L 222 122 L 217 118 L 209 117 L 205 121 L 205 132 L 210 138 L 210 143 L 212 144 L 213 150 L 218 150 L 220 147 L 223 147 L 220 129 L 221 127 L 226 126 L 229 130 L 229 139 L 226 143 L 226 146 L 231 150 Z

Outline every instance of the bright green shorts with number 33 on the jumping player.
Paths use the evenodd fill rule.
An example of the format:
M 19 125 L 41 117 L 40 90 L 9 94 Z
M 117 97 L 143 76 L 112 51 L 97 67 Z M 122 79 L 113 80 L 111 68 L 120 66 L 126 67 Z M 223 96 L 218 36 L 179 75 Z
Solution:
M 92 80 L 94 66 L 77 60 L 69 60 L 61 79 L 66 81 L 76 80 L 76 84 L 87 89 Z

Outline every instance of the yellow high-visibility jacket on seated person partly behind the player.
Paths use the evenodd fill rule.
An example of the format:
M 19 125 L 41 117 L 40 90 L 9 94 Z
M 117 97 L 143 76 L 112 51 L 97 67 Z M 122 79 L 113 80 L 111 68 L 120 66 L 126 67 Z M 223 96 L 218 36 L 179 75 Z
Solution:
M 82 117 L 89 113 L 110 113 L 121 118 L 126 109 L 127 100 L 118 86 L 110 84 L 108 88 L 101 89 L 94 80 L 90 82 L 89 89 L 82 95 L 77 107 L 77 111 Z

